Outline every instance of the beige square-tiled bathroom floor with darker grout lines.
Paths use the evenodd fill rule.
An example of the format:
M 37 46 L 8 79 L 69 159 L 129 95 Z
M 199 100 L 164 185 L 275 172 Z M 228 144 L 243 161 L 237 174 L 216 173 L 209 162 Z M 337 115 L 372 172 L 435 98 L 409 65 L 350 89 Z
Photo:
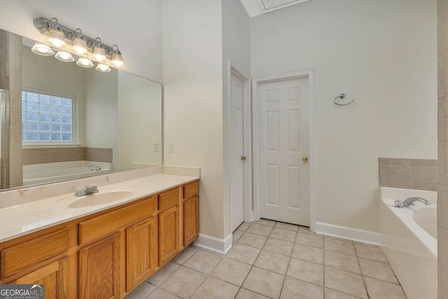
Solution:
M 126 299 L 406 298 L 379 246 L 260 219 L 226 254 L 189 246 Z

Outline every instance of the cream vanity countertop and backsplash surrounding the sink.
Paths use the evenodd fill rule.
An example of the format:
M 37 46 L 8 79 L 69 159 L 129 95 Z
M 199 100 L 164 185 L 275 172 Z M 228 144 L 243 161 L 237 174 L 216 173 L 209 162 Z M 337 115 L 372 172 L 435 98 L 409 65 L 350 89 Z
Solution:
M 131 172 L 97 176 L 92 179 L 67 181 L 0 193 L 0 202 L 6 201 L 3 198 L 8 193 L 15 197 L 16 202 L 15 205 L 0 209 L 0 242 L 94 214 L 97 211 L 116 207 L 126 202 L 132 202 L 199 179 L 197 176 L 163 174 L 161 170 L 162 166 L 137 169 Z M 157 171 L 158 173 L 156 173 Z M 151 172 L 154 173 L 151 175 Z M 76 186 L 89 186 L 90 183 L 97 183 L 99 192 L 101 190 L 106 192 L 108 188 L 132 188 L 132 195 L 109 204 L 71 209 L 69 204 L 78 200 L 78 197 L 71 196 L 76 190 Z M 36 200 L 36 198 L 40 198 L 40 200 Z M 20 204 L 22 202 L 25 202 L 25 204 Z

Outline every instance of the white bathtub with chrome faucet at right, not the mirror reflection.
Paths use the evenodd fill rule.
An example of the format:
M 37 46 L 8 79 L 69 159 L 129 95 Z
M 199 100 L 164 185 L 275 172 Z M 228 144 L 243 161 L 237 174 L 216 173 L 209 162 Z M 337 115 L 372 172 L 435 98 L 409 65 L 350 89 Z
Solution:
M 394 200 L 423 197 L 398 209 Z M 437 299 L 437 192 L 381 187 L 381 248 L 409 299 Z

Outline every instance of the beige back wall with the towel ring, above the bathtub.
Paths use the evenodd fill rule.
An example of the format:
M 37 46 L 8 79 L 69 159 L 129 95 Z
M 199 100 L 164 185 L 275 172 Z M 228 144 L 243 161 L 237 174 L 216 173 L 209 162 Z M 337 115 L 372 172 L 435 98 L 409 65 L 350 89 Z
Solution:
M 437 157 L 435 0 L 315 0 L 251 18 L 253 77 L 314 69 L 317 221 L 378 232 L 378 158 Z M 340 93 L 350 106 L 336 106 Z

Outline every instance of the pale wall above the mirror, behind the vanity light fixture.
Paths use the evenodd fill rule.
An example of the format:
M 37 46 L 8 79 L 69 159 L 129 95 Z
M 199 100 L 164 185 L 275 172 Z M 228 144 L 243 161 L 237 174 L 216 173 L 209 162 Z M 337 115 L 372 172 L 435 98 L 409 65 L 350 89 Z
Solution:
M 162 0 L 0 0 L 0 7 L 0 29 L 43 41 L 33 20 L 55 17 L 109 46 L 117 44 L 126 71 L 162 81 Z

